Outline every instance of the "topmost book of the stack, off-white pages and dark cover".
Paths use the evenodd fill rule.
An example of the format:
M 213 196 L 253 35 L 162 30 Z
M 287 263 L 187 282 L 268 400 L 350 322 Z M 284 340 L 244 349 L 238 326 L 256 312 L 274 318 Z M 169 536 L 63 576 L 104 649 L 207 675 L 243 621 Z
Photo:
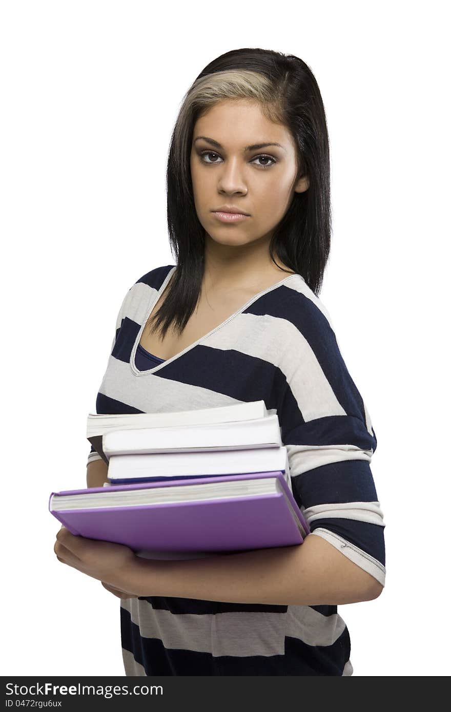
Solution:
M 90 413 L 88 414 L 86 437 L 95 451 L 108 465 L 108 457 L 103 452 L 103 436 L 113 430 L 210 425 L 214 423 L 232 424 L 237 421 L 254 420 L 267 416 L 268 411 L 264 400 L 164 413 Z

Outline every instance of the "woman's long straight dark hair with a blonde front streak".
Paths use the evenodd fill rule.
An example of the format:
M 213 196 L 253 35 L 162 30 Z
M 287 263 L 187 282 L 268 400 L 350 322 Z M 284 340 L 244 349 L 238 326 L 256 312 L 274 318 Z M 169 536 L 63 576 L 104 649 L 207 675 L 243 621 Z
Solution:
M 192 192 L 190 154 L 197 118 L 217 102 L 247 98 L 280 122 L 296 144 L 296 179 L 309 188 L 295 193 L 269 244 L 291 272 L 304 277 L 318 295 L 331 244 L 328 130 L 321 93 L 309 66 L 299 57 L 259 48 L 236 49 L 210 62 L 182 100 L 167 160 L 167 225 L 177 269 L 160 308 L 147 322 L 161 337 L 173 324 L 182 333 L 196 308 L 204 274 L 204 228 Z M 274 261 L 274 263 L 276 263 Z M 279 265 L 277 265 L 279 266 Z

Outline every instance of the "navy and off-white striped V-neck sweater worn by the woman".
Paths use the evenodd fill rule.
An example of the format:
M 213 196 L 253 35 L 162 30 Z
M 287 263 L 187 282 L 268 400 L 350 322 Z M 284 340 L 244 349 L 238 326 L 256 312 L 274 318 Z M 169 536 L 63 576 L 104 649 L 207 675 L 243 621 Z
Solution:
M 291 274 L 177 355 L 139 370 L 142 330 L 173 271 L 153 269 L 125 295 L 97 412 L 264 400 L 279 417 L 310 536 L 326 539 L 385 585 L 385 523 L 370 470 L 375 433 L 321 300 Z M 98 458 L 91 449 L 88 462 Z M 130 676 L 353 673 L 336 605 L 139 597 L 120 600 L 120 628 Z

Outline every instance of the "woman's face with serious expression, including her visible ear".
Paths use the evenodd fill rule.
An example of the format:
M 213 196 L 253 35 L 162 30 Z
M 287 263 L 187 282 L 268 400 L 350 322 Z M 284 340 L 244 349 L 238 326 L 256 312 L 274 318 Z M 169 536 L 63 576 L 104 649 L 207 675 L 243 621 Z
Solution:
M 264 147 L 253 145 L 271 144 Z M 289 209 L 295 192 L 296 149 L 289 130 L 274 124 L 249 100 L 224 100 L 195 123 L 191 176 L 199 221 L 217 243 L 244 245 L 269 239 Z M 220 219 L 227 206 L 247 213 Z

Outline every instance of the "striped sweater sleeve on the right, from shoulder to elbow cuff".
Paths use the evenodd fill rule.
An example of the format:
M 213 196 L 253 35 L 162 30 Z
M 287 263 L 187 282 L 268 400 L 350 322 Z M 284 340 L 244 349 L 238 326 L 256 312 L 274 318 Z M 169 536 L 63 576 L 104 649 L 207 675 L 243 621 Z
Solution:
M 328 311 L 300 296 L 277 409 L 294 498 L 312 535 L 385 586 L 385 523 L 370 469 L 375 432 Z

